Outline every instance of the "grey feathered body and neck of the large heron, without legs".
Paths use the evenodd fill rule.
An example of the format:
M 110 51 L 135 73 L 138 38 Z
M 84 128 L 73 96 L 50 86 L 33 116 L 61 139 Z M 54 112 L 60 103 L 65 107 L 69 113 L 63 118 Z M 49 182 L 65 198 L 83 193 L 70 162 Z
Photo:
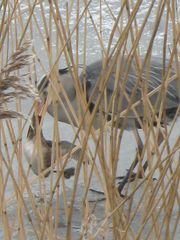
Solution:
M 171 68 L 170 71 L 170 77 L 172 78 L 174 76 L 175 77 L 170 83 L 168 84 L 165 83 L 164 76 L 166 74 L 167 61 L 165 65 L 166 67 L 163 67 L 162 59 L 152 57 L 150 64 L 146 64 L 140 74 L 139 71 L 137 70 L 135 61 L 132 61 L 131 64 L 128 64 L 128 60 L 126 59 L 126 57 L 124 57 L 123 59 L 121 59 L 120 64 L 118 66 L 120 70 L 117 77 L 116 76 L 117 64 L 115 64 L 112 69 L 112 73 L 109 75 L 109 79 L 107 80 L 107 84 L 103 93 L 104 95 L 101 98 L 100 102 L 101 111 L 104 112 L 104 115 L 106 116 L 107 120 L 111 120 L 112 109 L 115 114 L 120 114 L 121 112 L 128 108 L 129 100 L 131 101 L 131 105 L 139 101 L 139 103 L 134 107 L 134 110 L 131 107 L 128 110 L 125 128 L 127 129 L 134 128 L 135 126 L 139 125 L 137 124 L 137 115 L 141 119 L 143 119 L 144 117 L 142 88 L 143 86 L 146 86 L 147 94 L 159 87 L 159 89 L 155 91 L 155 93 L 149 96 L 149 101 L 150 104 L 153 107 L 155 107 L 155 111 L 157 113 L 160 109 L 161 104 L 163 104 L 163 111 L 166 112 L 167 117 L 166 120 L 169 121 L 174 116 L 176 109 L 179 106 L 180 98 L 178 93 L 178 81 L 177 81 L 178 79 L 177 76 L 175 76 L 175 70 L 173 67 Z M 82 86 L 85 85 L 84 90 L 86 92 L 87 102 L 89 100 L 91 101 L 89 104 L 90 112 L 93 110 L 97 98 L 101 93 L 100 85 L 102 84 L 102 82 L 99 81 L 99 78 L 106 76 L 108 74 L 108 69 L 109 69 L 108 67 L 103 68 L 102 61 L 99 60 L 87 66 L 85 73 L 82 73 L 79 77 Z M 69 98 L 71 106 L 74 109 L 74 112 L 77 113 L 79 109 L 79 104 L 70 71 L 67 68 L 61 69 L 59 70 L 59 76 L 61 84 L 63 85 L 66 94 Z M 42 79 L 40 85 L 42 85 L 42 82 L 45 82 L 45 80 L 48 86 L 48 81 L 46 78 Z M 163 89 L 161 88 L 162 86 Z M 112 102 L 111 98 L 115 91 L 116 94 L 114 97 L 114 101 Z M 162 96 L 164 96 L 163 91 L 165 92 L 165 97 L 162 100 Z M 104 100 L 105 96 L 106 100 Z M 73 124 L 76 125 L 76 122 L 74 121 L 71 111 L 68 110 L 69 106 L 61 93 L 60 98 L 62 99 L 65 109 L 68 111 Z M 107 108 L 108 112 L 106 110 Z M 50 115 L 54 116 L 52 104 L 49 104 L 48 112 Z M 98 116 L 98 114 L 99 109 L 96 115 Z M 70 123 L 67 114 L 64 110 L 64 107 L 61 105 L 60 102 L 58 103 L 58 120 L 68 124 Z M 121 120 L 123 121 L 123 117 L 119 117 L 119 126 L 122 125 Z M 94 126 L 96 128 L 99 127 L 99 125 L 96 124 L 96 116 L 94 120 Z

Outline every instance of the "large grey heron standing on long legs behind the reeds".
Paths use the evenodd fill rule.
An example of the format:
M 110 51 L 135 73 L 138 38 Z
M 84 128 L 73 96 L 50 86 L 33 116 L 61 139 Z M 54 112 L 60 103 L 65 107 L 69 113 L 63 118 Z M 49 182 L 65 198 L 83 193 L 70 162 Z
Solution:
M 163 59 L 159 57 L 151 57 L 150 61 L 145 61 L 145 58 L 141 57 L 140 62 L 145 64 L 142 64 L 142 67 L 138 69 L 138 64 L 136 64 L 135 59 L 129 61 L 127 56 L 120 56 L 119 61 L 116 61 L 114 65 L 111 65 L 111 61 L 109 61 L 109 63 L 106 63 L 104 66 L 103 61 L 98 60 L 86 66 L 85 71 L 79 76 L 82 89 L 86 93 L 86 101 L 90 113 L 95 109 L 98 97 L 100 94 L 102 95 L 99 107 L 96 108 L 93 126 L 95 128 L 100 127 L 99 116 L 102 116 L 102 114 L 107 122 L 111 121 L 112 123 L 112 112 L 114 112 L 118 128 L 123 127 L 124 129 L 136 130 L 139 153 L 142 152 L 143 146 L 137 129 L 142 128 L 145 118 L 142 88 L 144 87 L 146 90 L 148 106 L 154 107 L 154 112 L 151 112 L 154 126 L 158 125 L 158 121 L 161 126 L 169 123 L 177 111 L 179 111 L 180 103 L 178 91 L 179 78 L 174 64 L 168 67 L 168 60 L 163 61 Z M 112 67 L 112 71 L 109 73 L 110 67 Z M 79 102 L 71 72 L 71 67 L 59 69 L 58 81 L 61 82 L 60 86 L 63 86 L 74 112 L 77 113 Z M 166 81 L 167 79 L 171 79 L 171 81 Z M 102 90 L 103 81 L 106 81 L 106 84 Z M 43 102 L 45 102 L 47 98 L 49 85 L 50 81 L 48 76 L 44 76 L 39 84 Z M 69 109 L 69 107 L 68 104 L 66 104 L 62 92 L 59 93 L 59 96 L 65 108 L 58 102 L 58 120 L 60 122 L 77 125 L 76 120 L 69 110 L 68 113 L 71 116 L 71 122 L 67 116 L 65 110 Z M 106 98 L 104 98 L 104 96 L 106 96 Z M 160 113 L 160 109 L 163 114 Z M 128 111 L 126 112 L 126 110 Z M 54 116 L 52 103 L 48 104 L 47 111 L 50 115 Z M 126 117 L 121 115 L 124 111 L 126 112 Z M 125 184 L 135 178 L 136 175 L 132 174 L 132 171 L 137 163 L 138 157 L 134 160 L 124 179 L 119 183 L 118 190 L 120 194 Z M 147 162 L 143 166 L 144 172 L 146 169 Z M 142 177 L 141 174 L 139 177 Z

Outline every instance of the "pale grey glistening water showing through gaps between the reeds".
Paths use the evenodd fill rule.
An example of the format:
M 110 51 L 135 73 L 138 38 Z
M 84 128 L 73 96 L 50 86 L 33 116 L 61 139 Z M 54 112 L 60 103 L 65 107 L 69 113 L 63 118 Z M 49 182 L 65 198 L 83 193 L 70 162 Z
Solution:
M 99 16 L 100 6 L 99 6 L 98 2 L 99 1 L 92 1 L 89 6 L 89 11 L 90 11 L 91 16 L 92 16 L 94 22 L 96 23 L 96 27 L 99 31 L 100 30 L 100 16 Z M 109 4 L 109 7 L 111 8 L 111 10 L 113 11 L 114 16 L 117 17 L 117 15 L 119 13 L 119 9 L 120 9 L 120 4 L 119 4 L 120 1 L 114 1 L 114 0 L 110 1 L 109 0 L 107 2 Z M 43 4 L 45 7 L 44 9 L 45 9 L 46 17 L 48 18 L 49 17 L 49 6 L 47 4 L 47 1 L 44 1 Z M 149 4 L 150 4 L 150 1 L 144 1 L 140 10 L 138 11 L 138 14 L 137 14 L 137 24 L 138 25 L 142 24 L 144 16 L 148 10 Z M 141 54 L 146 53 L 147 46 L 149 44 L 149 39 L 150 39 L 150 36 L 152 35 L 152 24 L 154 23 L 154 20 L 156 18 L 157 5 L 158 5 L 158 1 L 155 1 L 155 6 L 149 17 L 148 23 L 145 27 L 144 34 L 142 35 L 141 40 L 140 40 L 139 48 L 140 48 Z M 178 6 L 180 6 L 180 3 Z M 21 4 L 21 9 L 26 10 L 27 9 L 26 4 Z M 84 9 L 84 6 L 83 6 L 83 1 L 82 1 L 80 3 L 80 13 L 82 13 L 83 9 Z M 60 11 L 63 16 L 63 20 L 65 21 L 66 5 L 65 5 L 64 1 L 61 1 Z M 102 37 L 103 37 L 104 47 L 106 48 L 107 44 L 108 44 L 110 32 L 112 31 L 114 20 L 112 19 L 105 3 L 103 3 L 103 5 L 102 5 L 102 16 L 103 16 L 102 17 Z M 38 23 L 41 25 L 42 17 L 41 17 L 41 10 L 40 10 L 39 5 L 37 5 L 35 8 L 35 17 L 37 18 Z M 165 28 L 165 26 L 164 26 L 165 17 L 166 16 L 165 16 L 165 12 L 164 12 L 164 15 L 162 17 L 162 20 L 161 20 L 159 28 L 158 28 L 158 33 L 155 38 L 155 44 L 153 45 L 153 55 L 161 55 L 162 54 L 162 50 L 163 50 L 162 40 L 163 40 L 163 33 L 164 33 L 164 28 Z M 27 18 L 28 18 L 28 14 L 25 13 L 24 20 L 27 20 Z M 71 18 L 70 18 L 70 22 L 69 22 L 71 30 L 74 28 L 75 22 L 76 22 L 76 10 L 75 10 L 75 5 L 74 5 L 73 11 L 71 14 Z M 127 22 L 127 16 L 124 16 L 123 24 L 125 25 L 126 22 Z M 170 29 L 170 33 L 168 35 L 168 46 L 170 48 L 172 48 L 171 24 L 169 26 L 169 29 Z M 43 30 L 43 27 L 41 30 Z M 78 51 L 79 63 L 83 63 L 83 41 L 84 41 L 84 39 L 83 39 L 84 32 L 83 31 L 84 31 L 84 22 L 83 22 L 83 20 L 81 20 L 81 22 L 79 24 L 79 51 Z M 45 36 L 45 31 L 44 31 L 44 36 Z M 55 36 L 56 36 L 55 26 L 53 26 L 53 28 L 52 28 L 52 41 L 53 41 L 52 42 L 52 46 L 53 46 L 52 53 L 53 53 L 53 57 L 54 57 L 54 58 L 52 58 L 53 61 L 55 59 L 55 54 L 56 54 L 56 41 L 55 41 L 56 37 Z M 73 34 L 73 36 L 72 36 L 73 49 L 75 49 L 75 37 L 76 37 L 75 34 Z M 119 33 L 117 32 L 113 38 L 113 45 L 116 43 L 118 37 L 119 37 Z M 33 45 L 34 45 L 37 57 L 41 60 L 42 64 L 44 66 L 46 66 L 46 69 L 44 71 L 40 67 L 40 65 L 37 64 L 36 69 L 37 69 L 37 76 L 39 79 L 40 76 L 42 76 L 43 74 L 45 74 L 46 72 L 49 71 L 50 67 L 48 64 L 46 51 L 43 47 L 42 40 L 39 36 L 37 28 L 35 27 L 35 24 L 34 24 L 34 34 L 33 34 Z M 130 41 L 128 42 L 128 47 L 131 47 Z M 98 37 L 94 31 L 94 28 L 92 26 L 92 22 L 91 22 L 90 18 L 88 18 L 88 34 L 87 34 L 87 49 L 86 49 L 86 51 L 87 51 L 87 53 L 86 53 L 87 64 L 101 58 L 101 46 L 99 44 Z M 74 51 L 74 54 L 75 54 L 75 51 Z M 62 56 L 62 58 L 60 59 L 59 66 L 60 67 L 66 66 L 64 56 Z M 26 102 L 24 101 L 22 104 L 22 111 L 25 113 L 28 113 L 29 109 L 31 108 L 31 105 L 32 105 L 32 101 L 30 101 L 30 100 L 28 100 Z M 13 105 L 12 105 L 12 107 L 13 107 Z M 52 117 L 50 117 L 47 114 L 47 117 L 46 117 L 46 119 L 44 121 L 44 125 L 43 125 L 43 132 L 44 132 L 44 135 L 46 138 L 52 139 L 52 126 L 53 126 L 53 119 L 52 119 Z M 173 132 L 170 137 L 171 145 L 173 145 L 174 142 L 179 137 L 179 134 L 180 134 L 179 126 L 180 126 L 180 119 L 178 119 L 178 121 L 176 122 L 176 124 L 173 128 Z M 14 121 L 14 127 L 15 127 L 15 129 L 17 127 L 16 121 Z M 23 144 L 26 140 L 27 128 L 28 128 L 28 124 L 26 125 L 26 127 L 23 131 L 23 135 L 22 135 Z M 18 135 L 18 133 L 16 133 L 16 134 Z M 74 136 L 74 132 L 73 132 L 72 128 L 70 126 L 68 126 L 66 124 L 62 124 L 62 123 L 60 123 L 60 134 L 61 134 L 62 140 L 66 139 L 66 140 L 71 141 Z M 142 132 L 141 132 L 141 135 L 142 135 Z M 131 142 L 129 144 L 130 139 L 131 139 Z M 11 147 L 12 145 L 11 145 L 9 137 L 7 137 L 7 141 L 8 141 L 8 146 Z M 133 134 L 130 131 L 125 131 L 124 136 L 123 136 L 122 147 L 121 147 L 121 151 L 120 151 L 120 155 L 119 155 L 120 164 L 118 165 L 118 170 L 117 170 L 117 173 L 119 175 L 123 175 L 126 173 L 126 169 L 129 168 L 132 160 L 134 159 L 135 151 L 136 151 L 136 142 L 135 142 L 135 139 L 133 138 Z M 73 161 L 71 161 L 71 163 L 70 163 L 70 165 L 75 165 L 75 164 L 76 163 L 74 163 Z M 15 172 L 15 176 L 18 176 L 17 163 L 14 161 L 13 165 L 14 165 L 13 170 Z M 28 168 L 28 165 L 27 165 L 26 161 L 24 160 L 24 157 L 23 157 L 23 167 L 24 167 L 24 169 Z M 33 177 L 33 173 L 30 172 L 29 178 L 31 178 L 31 177 Z M 158 177 L 158 174 L 155 177 Z M 69 198 L 71 196 L 73 181 L 74 181 L 73 179 L 66 181 L 66 186 L 67 186 L 66 191 L 69 195 Z M 46 184 L 47 185 L 49 184 L 49 179 L 46 180 Z M 91 182 L 91 187 L 93 187 L 94 189 L 101 190 L 101 187 L 95 176 L 93 177 L 93 180 Z M 47 187 L 47 189 L 48 189 L 48 187 Z M 9 185 L 8 185 L 7 193 L 6 193 L 7 196 L 11 195 L 12 190 L 13 190 L 13 185 L 12 185 L 12 182 L 9 181 Z M 138 199 L 141 195 L 140 194 L 141 191 L 142 190 L 139 190 L 134 197 L 134 203 L 133 203 L 134 207 L 138 203 Z M 38 186 L 36 186 L 36 184 L 33 185 L 33 193 L 37 194 L 37 196 L 39 194 L 39 188 L 38 188 Z M 81 173 L 81 177 L 79 179 L 79 186 L 78 186 L 78 196 L 80 196 L 80 197 L 79 198 L 76 197 L 76 201 L 75 201 L 75 205 L 74 205 L 73 229 L 72 229 L 73 240 L 78 239 L 79 232 L 82 228 L 82 226 L 81 226 L 81 196 L 82 196 L 82 194 L 83 194 L 83 174 Z M 94 200 L 99 197 L 100 196 L 97 196 L 96 194 L 93 194 L 91 192 L 89 193 L 89 199 Z M 28 201 L 28 198 L 26 198 L 26 196 L 25 196 L 24 199 L 25 199 L 28 209 L 31 209 L 32 206 L 31 206 L 30 202 Z M 62 195 L 60 198 L 60 202 L 61 202 L 61 205 L 60 205 L 61 206 L 61 209 L 60 209 L 61 215 L 59 216 L 58 231 L 60 232 L 60 234 L 63 234 L 63 233 L 65 234 L 66 233 L 66 221 L 65 221 L 64 207 L 62 204 L 62 202 L 63 202 Z M 53 204 L 54 205 L 56 204 L 56 199 L 53 200 Z M 12 201 L 11 205 L 8 208 L 8 213 L 9 213 L 10 217 L 14 216 L 15 210 L 16 210 L 16 203 Z M 177 212 L 178 212 L 178 206 L 175 205 L 175 207 L 173 209 L 173 215 L 172 215 L 172 223 L 171 223 L 172 226 L 177 217 Z M 30 210 L 30 213 L 32 214 L 31 210 Z M 94 229 L 93 229 L 94 232 L 97 229 L 97 227 L 100 225 L 101 221 L 103 220 L 103 217 L 104 217 L 103 213 L 104 213 L 104 203 L 99 202 L 96 206 L 95 214 L 92 214 L 92 216 L 91 216 L 92 218 L 94 218 L 93 221 L 95 222 L 95 225 L 96 225 L 96 227 L 94 227 Z M 160 216 L 163 218 L 163 215 L 160 215 Z M 34 218 L 33 214 L 32 214 L 32 217 Z M 135 219 L 132 224 L 135 231 L 137 231 L 139 228 L 139 223 L 140 223 L 141 217 L 142 217 L 141 213 L 136 214 L 136 216 L 135 216 Z M 27 230 L 29 229 L 27 239 L 28 240 L 35 239 L 35 236 L 32 235 L 31 225 L 30 225 L 27 217 L 25 217 L 25 225 L 26 225 Z M 92 223 L 92 226 L 94 226 L 93 223 Z M 146 227 L 145 227 L 143 233 L 146 234 L 148 232 L 148 230 L 149 229 L 146 224 Z M 109 234 L 110 234 L 109 238 L 107 238 L 107 239 L 112 238 L 111 232 Z M 176 239 L 178 239 L 178 236 L 180 236 L 180 228 L 178 228 L 178 230 L 177 230 Z M 2 238 L 1 231 L 0 231 L 0 237 Z M 18 236 L 15 234 L 13 239 L 18 239 Z M 102 238 L 97 238 L 97 239 L 102 239 Z

